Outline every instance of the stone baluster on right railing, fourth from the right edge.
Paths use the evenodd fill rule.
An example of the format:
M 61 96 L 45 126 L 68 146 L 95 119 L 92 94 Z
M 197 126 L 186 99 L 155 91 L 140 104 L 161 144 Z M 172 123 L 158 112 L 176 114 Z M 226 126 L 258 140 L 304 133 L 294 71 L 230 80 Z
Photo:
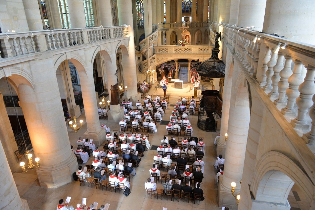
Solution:
M 285 55 L 285 64 L 284 68 L 280 71 L 280 81 L 278 82 L 279 88 L 279 97 L 274 101 L 275 105 L 286 105 L 286 101 L 284 100 L 285 97 L 285 90 L 289 88 L 288 78 L 292 75 L 291 70 L 291 63 L 292 59 L 289 55 Z

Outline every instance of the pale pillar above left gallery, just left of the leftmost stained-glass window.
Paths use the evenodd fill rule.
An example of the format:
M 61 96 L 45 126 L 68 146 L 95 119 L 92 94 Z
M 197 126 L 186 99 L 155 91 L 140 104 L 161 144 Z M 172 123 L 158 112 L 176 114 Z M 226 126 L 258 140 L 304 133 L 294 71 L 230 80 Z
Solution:
M 30 31 L 43 30 L 42 13 L 37 0 L 23 0 L 27 25 Z

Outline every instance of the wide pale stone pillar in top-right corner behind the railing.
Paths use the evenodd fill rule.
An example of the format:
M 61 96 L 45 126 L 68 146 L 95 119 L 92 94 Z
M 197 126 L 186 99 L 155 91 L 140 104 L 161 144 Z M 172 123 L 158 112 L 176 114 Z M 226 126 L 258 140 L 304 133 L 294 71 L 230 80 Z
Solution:
M 315 44 L 315 16 L 312 1 L 267 0 L 263 30 L 278 33 L 294 41 Z M 295 29 L 295 30 L 292 30 Z

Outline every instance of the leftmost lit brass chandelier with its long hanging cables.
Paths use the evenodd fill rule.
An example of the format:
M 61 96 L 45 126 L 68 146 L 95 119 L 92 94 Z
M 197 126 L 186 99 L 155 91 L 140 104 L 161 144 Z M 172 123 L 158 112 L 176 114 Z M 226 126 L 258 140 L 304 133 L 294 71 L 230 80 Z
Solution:
M 23 142 L 24 142 L 24 146 L 25 146 L 25 154 L 27 155 L 27 158 L 28 158 L 28 166 L 27 168 L 25 167 L 25 162 L 20 162 L 20 166 L 22 167 L 22 171 L 23 172 L 27 172 L 29 169 L 33 170 L 34 167 L 35 168 L 39 168 L 40 167 L 40 163 L 39 163 L 39 157 L 35 158 L 35 162 L 36 162 L 36 165 L 33 163 L 33 159 L 32 159 L 32 154 L 30 153 L 30 151 L 27 149 L 26 147 L 26 142 L 25 142 L 25 139 L 24 139 L 24 135 L 23 135 L 23 131 L 22 131 L 22 128 L 21 128 L 21 124 L 20 124 L 20 120 L 19 120 L 19 117 L 18 117 L 18 114 L 17 114 L 17 111 L 16 111 L 16 108 L 15 108 L 15 103 L 14 103 L 14 99 L 13 99 L 13 95 L 12 95 L 12 92 L 11 92 L 11 89 L 10 89 L 10 86 L 9 86 L 9 82 L 8 82 L 8 79 L 7 79 L 7 84 L 8 84 L 8 88 L 9 88 L 9 91 L 10 91 L 10 95 L 11 95 L 11 99 L 12 99 L 12 102 L 13 102 L 13 106 L 14 106 L 14 110 L 15 110 L 15 115 L 16 115 L 16 118 L 18 120 L 18 123 L 19 123 L 19 126 L 20 126 L 20 130 L 21 130 L 21 134 L 22 134 L 22 138 L 23 138 Z

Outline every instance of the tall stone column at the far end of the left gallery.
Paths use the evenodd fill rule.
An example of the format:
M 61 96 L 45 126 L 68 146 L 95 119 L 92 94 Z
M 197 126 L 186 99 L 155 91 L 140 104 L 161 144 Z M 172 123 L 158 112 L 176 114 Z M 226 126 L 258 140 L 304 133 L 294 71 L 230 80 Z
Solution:
M 123 1 L 117 0 L 118 5 L 118 16 L 119 16 L 119 25 L 127 24 L 129 27 L 129 55 L 123 53 L 123 68 L 128 68 L 128 71 L 125 71 L 124 77 L 124 85 L 128 87 L 128 91 L 125 93 L 125 97 L 130 99 L 133 104 L 137 102 L 137 100 L 141 99 L 141 94 L 137 91 L 137 86 L 135 82 L 137 82 L 137 69 L 136 69 L 136 58 L 135 58 L 135 37 L 134 37 L 134 25 L 132 20 L 132 7 L 131 1 Z M 152 21 L 152 20 L 151 20 Z M 152 27 L 152 24 L 151 24 Z M 128 73 L 127 73 L 128 72 Z

